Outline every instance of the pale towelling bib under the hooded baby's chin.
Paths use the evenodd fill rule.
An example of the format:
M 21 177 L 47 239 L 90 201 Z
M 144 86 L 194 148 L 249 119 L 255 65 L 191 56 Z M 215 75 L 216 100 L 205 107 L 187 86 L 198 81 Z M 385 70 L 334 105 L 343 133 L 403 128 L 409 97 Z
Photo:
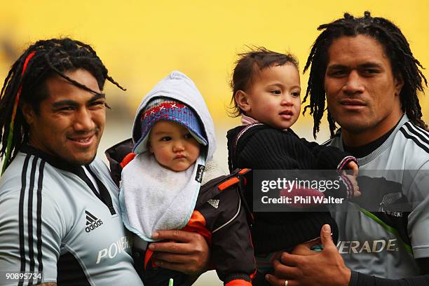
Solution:
M 151 239 L 154 232 L 186 226 L 200 191 L 204 162 L 200 155 L 187 170 L 175 172 L 163 168 L 149 152 L 137 155 L 123 168 L 119 193 L 127 229 L 156 241 Z

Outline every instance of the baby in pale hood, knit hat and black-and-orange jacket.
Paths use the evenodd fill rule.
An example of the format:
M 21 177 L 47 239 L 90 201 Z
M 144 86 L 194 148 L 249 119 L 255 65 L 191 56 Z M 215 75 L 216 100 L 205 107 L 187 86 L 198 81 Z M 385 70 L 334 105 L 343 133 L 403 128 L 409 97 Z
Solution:
M 135 157 L 122 170 L 119 198 L 137 243 L 156 241 L 160 230 L 198 232 L 224 284 L 251 285 L 253 248 L 240 196 L 247 171 L 222 175 L 212 161 L 213 121 L 191 79 L 173 71 L 144 97 L 132 139 Z M 175 286 L 191 284 L 184 273 L 156 267 L 145 248 L 137 271 L 146 285 L 168 285 L 170 278 Z

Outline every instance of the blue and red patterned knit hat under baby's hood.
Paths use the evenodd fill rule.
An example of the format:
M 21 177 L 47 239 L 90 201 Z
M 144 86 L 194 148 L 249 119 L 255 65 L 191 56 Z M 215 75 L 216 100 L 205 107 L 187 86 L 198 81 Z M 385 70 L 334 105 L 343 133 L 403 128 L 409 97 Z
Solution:
M 204 132 L 201 129 L 198 116 L 192 109 L 177 100 L 168 97 L 157 97 L 151 100 L 140 114 L 142 136 L 132 150 L 135 154 L 149 151 L 147 147 L 149 132 L 158 121 L 174 121 L 183 125 L 198 143 L 207 146 L 207 139 L 203 135 Z

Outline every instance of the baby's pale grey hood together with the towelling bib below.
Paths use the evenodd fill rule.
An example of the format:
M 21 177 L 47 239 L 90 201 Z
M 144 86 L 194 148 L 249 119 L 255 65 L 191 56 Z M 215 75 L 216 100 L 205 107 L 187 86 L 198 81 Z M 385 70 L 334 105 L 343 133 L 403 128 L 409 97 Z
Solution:
M 145 136 L 142 139 L 142 115 L 144 116 L 146 112 L 146 116 L 149 116 L 147 122 L 144 121 L 147 124 L 144 127 L 150 126 L 152 121 L 148 112 L 149 114 L 152 111 L 156 112 L 150 108 L 151 102 L 165 98 L 182 102 L 186 108 L 193 110 L 195 116 L 192 116 L 191 121 L 196 123 L 199 120 L 200 128 L 197 128 L 198 130 L 193 128 L 196 124 L 187 127 L 195 131 L 196 135 L 204 133 L 201 135 L 207 140 L 203 143 L 207 144 L 204 149 L 201 148 L 204 151 L 200 151 L 196 162 L 181 172 L 163 168 L 155 156 L 144 149 L 140 149 L 142 152 L 123 168 L 119 193 L 123 224 L 139 238 L 147 241 L 154 241 L 152 236 L 156 231 L 182 229 L 189 222 L 200 191 L 205 165 L 212 159 L 216 148 L 212 117 L 203 97 L 191 79 L 180 71 L 172 71 L 144 97 L 137 109 L 132 127 L 132 139 L 135 144 L 139 142 L 140 147 L 144 146 L 142 145 L 144 139 L 150 132 L 149 128 L 143 128 Z M 171 106 L 165 108 L 176 110 Z M 183 110 L 180 114 L 169 111 L 163 116 L 168 115 L 164 118 L 175 121 L 178 119 L 176 116 L 184 114 L 189 115 L 189 110 L 187 112 Z M 158 119 L 154 117 L 154 120 Z M 188 119 L 190 118 L 187 118 L 186 122 L 189 123 Z

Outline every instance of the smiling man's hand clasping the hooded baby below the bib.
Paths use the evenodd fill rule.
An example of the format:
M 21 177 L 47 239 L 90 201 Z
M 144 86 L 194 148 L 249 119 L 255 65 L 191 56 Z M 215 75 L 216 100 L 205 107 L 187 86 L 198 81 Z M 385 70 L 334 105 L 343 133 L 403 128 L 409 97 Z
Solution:
M 188 275 L 199 275 L 207 270 L 209 248 L 203 236 L 189 231 L 158 231 L 155 239 L 173 240 L 151 243 L 157 266 L 180 271 Z

